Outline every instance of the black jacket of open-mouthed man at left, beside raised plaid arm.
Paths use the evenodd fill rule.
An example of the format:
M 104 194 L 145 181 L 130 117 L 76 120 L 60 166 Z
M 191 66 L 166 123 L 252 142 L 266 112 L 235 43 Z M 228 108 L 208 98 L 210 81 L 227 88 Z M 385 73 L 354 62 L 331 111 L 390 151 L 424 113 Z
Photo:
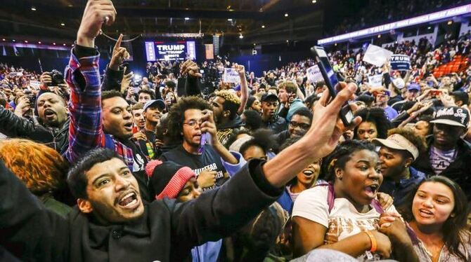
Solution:
M 20 118 L 4 106 L 0 106 L 0 132 L 8 137 L 23 137 L 46 144 L 61 154 L 69 146 L 69 123 L 70 120 L 67 118 L 62 127 L 53 131 L 38 121 Z

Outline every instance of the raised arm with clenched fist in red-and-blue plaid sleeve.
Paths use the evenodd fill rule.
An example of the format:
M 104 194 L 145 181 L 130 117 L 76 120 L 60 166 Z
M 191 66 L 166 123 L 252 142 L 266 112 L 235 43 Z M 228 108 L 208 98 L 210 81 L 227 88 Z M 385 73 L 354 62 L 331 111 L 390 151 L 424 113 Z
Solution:
M 95 37 L 104 22 L 111 25 L 115 21 L 115 15 L 111 1 L 88 1 L 77 32 L 77 45 L 72 48 L 65 72 L 65 80 L 70 86 L 69 149 L 66 157 L 72 163 L 101 143 L 100 54 L 95 48 Z

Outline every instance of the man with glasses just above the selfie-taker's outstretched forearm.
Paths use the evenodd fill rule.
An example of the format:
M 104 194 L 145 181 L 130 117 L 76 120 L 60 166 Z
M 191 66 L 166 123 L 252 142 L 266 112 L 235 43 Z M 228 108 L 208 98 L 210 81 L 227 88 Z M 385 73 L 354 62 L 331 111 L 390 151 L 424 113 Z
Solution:
M 302 137 L 306 134 L 307 130 L 309 130 L 309 127 L 311 127 L 311 123 L 312 112 L 306 107 L 298 109 L 292 115 L 290 124 L 288 125 L 288 130 L 279 132 L 273 136 L 273 139 L 281 145 L 285 144 L 285 141 L 291 137 Z

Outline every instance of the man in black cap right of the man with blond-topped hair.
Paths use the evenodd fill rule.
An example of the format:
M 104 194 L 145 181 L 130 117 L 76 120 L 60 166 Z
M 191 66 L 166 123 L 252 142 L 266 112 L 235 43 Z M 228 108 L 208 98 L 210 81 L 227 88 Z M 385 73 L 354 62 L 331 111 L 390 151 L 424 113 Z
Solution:
M 287 130 L 288 123 L 286 123 L 285 118 L 281 118 L 276 113 L 278 97 L 271 93 L 266 93 L 262 96 L 261 102 L 263 126 L 269 128 L 275 134 Z

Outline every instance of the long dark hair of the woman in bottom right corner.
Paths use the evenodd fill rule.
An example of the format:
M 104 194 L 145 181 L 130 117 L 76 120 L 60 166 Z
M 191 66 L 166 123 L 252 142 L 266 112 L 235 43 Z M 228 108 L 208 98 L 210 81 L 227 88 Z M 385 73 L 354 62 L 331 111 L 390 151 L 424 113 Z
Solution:
M 444 243 L 446 248 L 449 249 L 450 253 L 461 258 L 460 261 L 467 261 L 466 254 L 463 254 L 463 252 L 460 251 L 460 246 L 465 247 L 466 243 L 470 241 L 470 233 L 466 228 L 467 198 L 465 192 L 460 188 L 458 183 L 443 176 L 432 176 L 428 179 L 424 179 L 420 182 L 420 184 L 415 186 L 415 188 L 410 193 L 408 193 L 408 195 L 406 195 L 406 201 L 404 201 L 405 204 L 398 208 L 399 212 L 406 221 L 410 222 L 414 220 L 412 205 L 415 193 L 417 193 L 418 188 L 420 188 L 420 186 L 425 182 L 444 184 L 445 186 L 448 186 L 453 192 L 453 198 L 455 199 L 455 207 L 453 207 L 453 211 L 451 212 L 453 216 L 449 216 L 449 218 L 446 219 L 443 227 L 441 228 L 441 233 L 443 233 Z

